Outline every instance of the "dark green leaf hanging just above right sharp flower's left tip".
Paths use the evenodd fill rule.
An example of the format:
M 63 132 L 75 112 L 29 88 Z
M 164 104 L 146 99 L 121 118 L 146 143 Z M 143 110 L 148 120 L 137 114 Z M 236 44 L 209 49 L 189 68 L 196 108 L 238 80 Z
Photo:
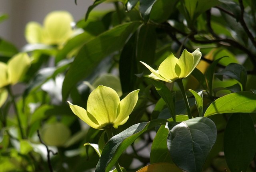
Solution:
M 136 44 L 137 62 L 143 61 L 147 64 L 154 63 L 154 56 L 156 50 L 156 31 L 153 25 L 143 25 L 138 34 L 138 41 Z M 139 73 L 143 71 L 144 66 L 139 65 Z

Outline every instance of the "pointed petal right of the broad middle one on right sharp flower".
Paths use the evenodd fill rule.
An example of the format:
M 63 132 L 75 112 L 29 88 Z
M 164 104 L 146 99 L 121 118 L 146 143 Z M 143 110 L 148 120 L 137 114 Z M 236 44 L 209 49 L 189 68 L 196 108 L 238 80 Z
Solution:
M 184 49 L 184 51 L 182 52 L 177 62 L 178 66 L 175 67 L 177 74 L 180 73 L 178 77 L 179 78 L 187 77 L 192 72 L 193 64 L 194 64 L 194 57 L 192 53 Z

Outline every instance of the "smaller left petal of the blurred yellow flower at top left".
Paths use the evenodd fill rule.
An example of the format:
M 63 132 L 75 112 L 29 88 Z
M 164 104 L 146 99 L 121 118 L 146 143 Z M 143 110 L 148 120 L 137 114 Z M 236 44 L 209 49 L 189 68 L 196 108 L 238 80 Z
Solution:
M 26 25 L 25 37 L 28 43 L 42 43 L 42 26 L 37 22 Z

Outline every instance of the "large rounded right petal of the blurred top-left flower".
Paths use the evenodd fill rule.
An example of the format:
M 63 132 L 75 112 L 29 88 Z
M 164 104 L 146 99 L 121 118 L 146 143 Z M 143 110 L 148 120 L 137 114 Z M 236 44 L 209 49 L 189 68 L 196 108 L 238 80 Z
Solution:
M 49 44 L 62 44 L 72 34 L 71 22 L 73 18 L 69 12 L 55 11 L 44 19 L 45 41 Z

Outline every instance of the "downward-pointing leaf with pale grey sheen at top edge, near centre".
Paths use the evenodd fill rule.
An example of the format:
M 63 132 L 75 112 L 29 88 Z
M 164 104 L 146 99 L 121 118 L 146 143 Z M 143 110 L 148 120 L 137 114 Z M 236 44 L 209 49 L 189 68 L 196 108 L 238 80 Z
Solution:
M 144 23 L 148 22 L 151 8 L 155 2 L 156 2 L 156 0 L 140 0 L 140 13 L 144 20 Z

